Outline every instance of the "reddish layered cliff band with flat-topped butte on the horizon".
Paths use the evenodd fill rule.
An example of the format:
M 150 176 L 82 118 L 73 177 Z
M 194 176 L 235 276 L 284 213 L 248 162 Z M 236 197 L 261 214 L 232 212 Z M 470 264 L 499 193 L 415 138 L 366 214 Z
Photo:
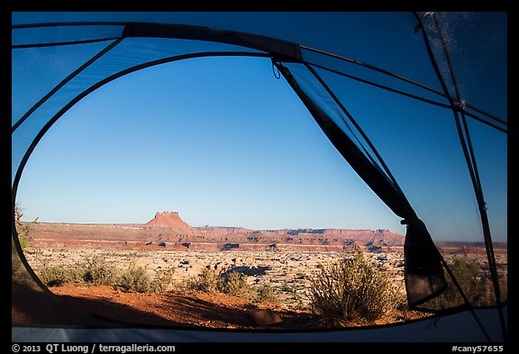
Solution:
M 404 236 L 388 230 L 192 227 L 177 212 L 156 213 L 145 224 L 34 223 L 33 238 L 44 243 L 116 245 L 117 248 L 168 250 L 353 250 L 400 249 Z

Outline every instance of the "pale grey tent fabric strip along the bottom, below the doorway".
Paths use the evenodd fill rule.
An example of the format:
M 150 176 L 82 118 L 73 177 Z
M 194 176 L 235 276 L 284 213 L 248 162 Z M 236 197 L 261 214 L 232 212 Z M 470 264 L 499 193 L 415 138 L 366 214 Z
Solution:
M 478 309 L 478 318 L 484 322 L 496 322 L 496 311 Z M 489 328 L 490 340 L 500 341 L 497 327 Z M 20 342 L 487 342 L 488 338 L 478 328 L 469 312 L 432 317 L 424 321 L 377 326 L 348 331 L 319 332 L 247 332 L 247 331 L 196 331 L 145 328 L 44 328 L 13 327 L 13 341 Z

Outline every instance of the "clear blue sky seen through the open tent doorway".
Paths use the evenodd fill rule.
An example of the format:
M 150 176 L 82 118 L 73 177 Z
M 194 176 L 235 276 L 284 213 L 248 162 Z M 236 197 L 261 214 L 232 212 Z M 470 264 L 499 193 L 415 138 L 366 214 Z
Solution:
M 190 59 L 103 86 L 32 153 L 17 195 L 26 219 L 178 211 L 195 226 L 404 232 L 271 70 L 269 59 Z

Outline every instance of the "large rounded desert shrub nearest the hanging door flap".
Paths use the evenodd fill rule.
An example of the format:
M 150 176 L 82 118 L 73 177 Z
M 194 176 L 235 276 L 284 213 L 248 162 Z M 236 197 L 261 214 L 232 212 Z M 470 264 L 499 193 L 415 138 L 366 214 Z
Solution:
M 386 273 L 365 259 L 360 248 L 351 259 L 321 267 L 310 281 L 310 307 L 326 322 L 373 322 L 396 305 Z

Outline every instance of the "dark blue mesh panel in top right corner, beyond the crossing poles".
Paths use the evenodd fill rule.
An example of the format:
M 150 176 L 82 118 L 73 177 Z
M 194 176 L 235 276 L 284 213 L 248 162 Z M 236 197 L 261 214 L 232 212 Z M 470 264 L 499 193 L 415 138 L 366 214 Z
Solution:
M 506 14 L 478 12 L 419 13 L 419 15 L 451 96 L 456 97 L 456 90 L 458 90 L 460 99 L 466 103 L 470 104 L 478 100 L 480 112 L 498 118 L 496 121 L 506 121 L 505 96 L 496 96 L 491 92 L 493 89 L 506 92 L 507 56 L 497 59 L 493 55 L 507 52 L 505 27 L 497 24 L 506 23 Z M 474 37 L 474 33 L 477 33 L 477 37 Z M 478 36 L 482 36 L 481 39 L 484 41 L 476 40 Z M 449 58 L 442 50 L 442 43 L 447 47 Z M 455 81 L 452 80 L 447 60 L 450 60 L 454 68 Z M 482 68 L 488 67 L 494 70 L 484 74 Z M 478 98 L 482 91 L 487 95 L 485 102 Z

